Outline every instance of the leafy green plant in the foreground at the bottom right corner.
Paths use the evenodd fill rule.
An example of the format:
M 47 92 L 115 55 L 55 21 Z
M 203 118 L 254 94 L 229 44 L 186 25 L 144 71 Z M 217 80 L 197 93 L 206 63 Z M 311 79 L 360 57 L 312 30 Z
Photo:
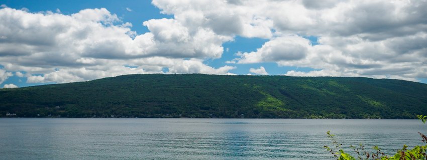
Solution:
M 417 115 L 418 119 L 421 119 L 423 123 L 425 123 L 425 118 L 427 116 L 423 115 Z M 419 135 L 422 138 L 422 142 L 427 142 L 427 136 L 422 134 L 421 132 L 418 132 Z M 393 156 L 386 155 L 384 152 L 381 151 L 381 149 L 375 145 L 372 147 L 373 150 L 367 150 L 365 149 L 365 146 L 362 144 L 359 144 L 359 146 L 353 146 L 350 145 L 350 148 L 354 150 L 354 152 L 357 154 L 357 158 L 350 155 L 349 153 L 345 152 L 341 146 L 343 144 L 337 142 L 335 139 L 335 135 L 331 134 L 330 131 L 327 132 L 328 138 L 330 138 L 333 142 L 333 147 L 330 147 L 328 145 L 325 145 L 324 148 L 326 148 L 336 159 L 338 160 L 366 160 L 366 159 L 381 159 L 381 160 L 418 160 L 418 159 L 427 159 L 426 156 L 426 145 L 416 145 L 412 149 L 407 149 L 407 145 L 403 145 L 402 149 L 397 150 L 396 154 Z

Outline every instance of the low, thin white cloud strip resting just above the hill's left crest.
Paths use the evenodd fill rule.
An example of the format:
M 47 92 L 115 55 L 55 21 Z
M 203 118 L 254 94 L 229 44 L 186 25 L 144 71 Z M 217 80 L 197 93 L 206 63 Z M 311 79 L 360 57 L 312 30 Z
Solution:
M 97 79 L 102 77 L 111 77 L 122 74 L 144 74 L 144 73 L 165 73 L 162 71 L 164 67 L 169 68 L 167 73 L 205 73 L 205 74 L 233 74 L 229 70 L 234 69 L 234 66 L 223 66 L 213 68 L 202 63 L 200 59 L 182 60 L 180 58 L 165 58 L 151 57 L 140 58 L 129 62 L 131 66 L 121 65 L 121 62 L 116 60 L 107 60 L 110 65 L 94 65 L 80 68 L 62 68 L 44 73 L 43 75 L 31 75 L 27 77 L 29 83 L 40 82 L 73 82 Z

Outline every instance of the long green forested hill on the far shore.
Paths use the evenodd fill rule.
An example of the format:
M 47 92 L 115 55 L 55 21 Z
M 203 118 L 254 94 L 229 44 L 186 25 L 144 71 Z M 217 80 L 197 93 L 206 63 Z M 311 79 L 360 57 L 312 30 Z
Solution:
M 2 117 L 414 118 L 426 112 L 427 84 L 364 77 L 133 74 L 0 89 Z

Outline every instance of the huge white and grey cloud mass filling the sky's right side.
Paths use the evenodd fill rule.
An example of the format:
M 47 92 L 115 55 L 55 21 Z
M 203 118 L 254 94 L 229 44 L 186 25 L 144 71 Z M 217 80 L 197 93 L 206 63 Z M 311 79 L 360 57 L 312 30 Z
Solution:
M 422 0 L 154 0 L 153 4 L 188 28 L 202 26 L 217 34 L 269 39 L 226 63 L 276 62 L 316 69 L 289 75 L 427 77 L 427 3 Z M 226 22 L 234 19 L 229 28 L 208 23 L 218 12 L 228 14 L 222 18 Z M 318 37 L 318 44 L 304 35 Z

